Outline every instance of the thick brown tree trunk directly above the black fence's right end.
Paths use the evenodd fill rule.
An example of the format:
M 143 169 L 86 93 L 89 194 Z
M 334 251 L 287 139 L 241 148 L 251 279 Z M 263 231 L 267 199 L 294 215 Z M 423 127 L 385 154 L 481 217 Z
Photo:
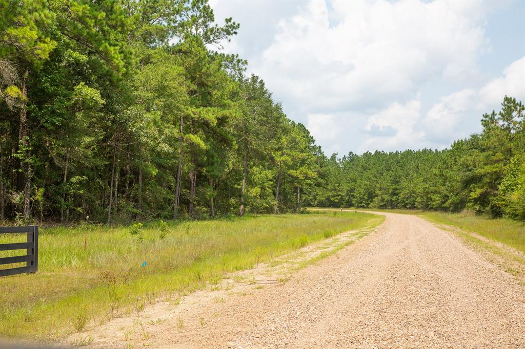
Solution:
M 29 72 L 26 70 L 24 80 L 22 81 L 22 96 L 27 100 L 26 80 Z M 29 163 L 30 151 L 27 141 L 27 111 L 25 105 L 20 108 L 20 129 L 18 133 L 19 146 L 22 147 L 24 159 L 22 159 L 22 172 L 24 173 L 24 220 L 29 221 L 30 217 L 30 199 L 31 199 L 31 164 Z

